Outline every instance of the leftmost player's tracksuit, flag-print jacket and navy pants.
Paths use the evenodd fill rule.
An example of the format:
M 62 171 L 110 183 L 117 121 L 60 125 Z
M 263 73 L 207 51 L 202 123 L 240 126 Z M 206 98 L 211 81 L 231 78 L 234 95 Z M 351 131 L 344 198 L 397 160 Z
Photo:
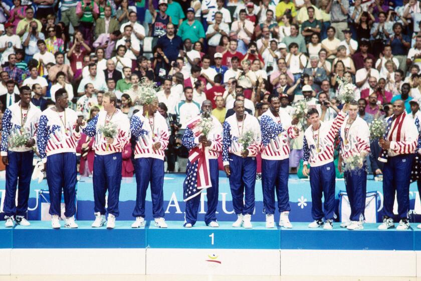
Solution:
M 3 210 L 6 216 L 23 216 L 28 210 L 28 199 L 32 175 L 34 151 L 25 146 L 12 147 L 9 137 L 25 133 L 28 139 L 36 139 L 41 110 L 32 102 L 28 110 L 22 110 L 21 102 L 13 104 L 5 110 L 2 120 L 1 156 L 7 156 L 6 196 Z M 26 116 L 26 117 L 25 117 Z M 23 124 L 23 120 L 25 123 Z M 24 132 L 21 131 L 22 124 Z M 18 206 L 16 206 L 16 188 L 18 187 Z

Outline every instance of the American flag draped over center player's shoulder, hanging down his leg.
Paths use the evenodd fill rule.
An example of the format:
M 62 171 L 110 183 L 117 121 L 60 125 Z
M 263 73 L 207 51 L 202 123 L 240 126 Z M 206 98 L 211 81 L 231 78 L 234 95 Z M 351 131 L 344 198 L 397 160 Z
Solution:
M 183 136 L 183 145 L 190 149 L 188 153 L 188 164 L 186 169 L 186 178 L 183 183 L 184 201 L 199 195 L 203 189 L 212 186 L 210 183 L 209 160 L 205 154 L 205 147 L 202 144 L 198 146 L 194 143 L 194 138 L 200 135 L 198 124 L 201 116 L 198 115 L 186 126 Z

